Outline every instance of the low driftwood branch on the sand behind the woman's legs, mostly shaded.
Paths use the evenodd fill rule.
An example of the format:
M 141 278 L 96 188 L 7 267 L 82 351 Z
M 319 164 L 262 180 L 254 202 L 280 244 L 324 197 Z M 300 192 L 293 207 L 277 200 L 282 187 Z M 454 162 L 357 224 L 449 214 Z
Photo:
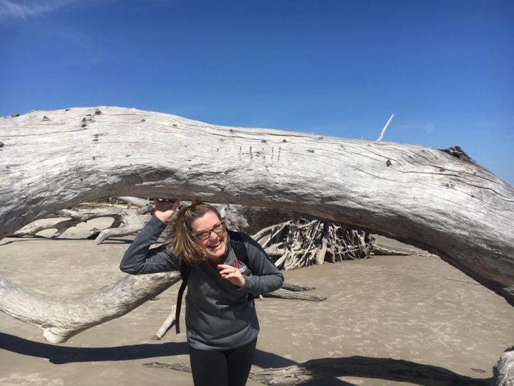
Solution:
M 187 363 L 144 363 L 146 367 L 191 372 Z M 249 378 L 264 385 L 298 385 L 308 381 L 334 376 L 358 376 L 388 381 L 409 382 L 424 386 L 491 385 L 490 378 L 471 378 L 456 374 L 443 367 L 421 365 L 411 361 L 390 358 L 323 358 L 312 359 L 289 367 L 250 372 Z

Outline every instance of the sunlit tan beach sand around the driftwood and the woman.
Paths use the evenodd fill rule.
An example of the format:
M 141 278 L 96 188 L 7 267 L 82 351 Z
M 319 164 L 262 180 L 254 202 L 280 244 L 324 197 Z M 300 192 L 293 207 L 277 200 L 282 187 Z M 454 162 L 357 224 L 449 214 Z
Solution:
M 0 276 L 63 299 L 119 280 L 124 276 L 119 261 L 130 239 L 103 245 L 82 239 L 93 226 L 105 225 L 105 220 L 89 221 L 60 239 L 3 239 Z M 490 377 L 500 354 L 514 344 L 514 309 L 440 258 L 382 242 L 407 248 L 413 256 L 375 256 L 286 272 L 287 281 L 315 286 L 314 292 L 328 300 L 257 301 L 261 333 L 254 370 L 358 355 Z M 192 385 L 190 374 L 142 365 L 188 362 L 184 334 L 171 330 L 162 341 L 150 340 L 175 302 L 176 287 L 61 345 L 47 343 L 38 328 L 0 313 L 0 385 Z M 409 384 L 353 375 L 308 385 Z

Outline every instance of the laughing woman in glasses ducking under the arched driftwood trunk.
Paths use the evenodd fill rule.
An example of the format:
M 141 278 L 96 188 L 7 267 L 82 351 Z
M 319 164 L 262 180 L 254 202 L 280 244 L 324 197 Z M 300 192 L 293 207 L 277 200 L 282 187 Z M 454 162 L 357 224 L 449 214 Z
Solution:
M 150 249 L 178 204 L 156 200 L 154 216 L 125 252 L 120 269 L 151 274 L 179 270 L 181 262 L 191 266 L 186 328 L 193 381 L 197 386 L 245 385 L 259 332 L 255 305 L 247 295 L 274 291 L 284 277 L 246 234 L 241 238 L 248 267 L 239 261 L 221 215 L 208 204 L 180 210 L 171 243 Z

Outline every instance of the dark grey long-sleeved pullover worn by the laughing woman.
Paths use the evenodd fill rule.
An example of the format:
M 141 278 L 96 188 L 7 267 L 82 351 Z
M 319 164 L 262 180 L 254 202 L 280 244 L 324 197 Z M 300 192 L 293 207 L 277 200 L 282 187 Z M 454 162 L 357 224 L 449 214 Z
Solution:
M 127 274 L 154 274 L 178 271 L 180 261 L 161 245 L 150 249 L 166 228 L 152 217 L 123 255 L 120 269 Z M 230 350 L 245 346 L 256 339 L 259 323 L 253 301 L 248 293 L 260 295 L 280 288 L 284 276 L 269 261 L 266 252 L 251 237 L 241 234 L 248 252 L 248 267 L 238 261 L 245 275 L 245 285 L 238 289 L 221 278 L 216 267 L 207 261 L 191 269 L 186 295 L 187 340 L 200 350 Z M 236 255 L 228 243 L 223 264 L 235 267 Z

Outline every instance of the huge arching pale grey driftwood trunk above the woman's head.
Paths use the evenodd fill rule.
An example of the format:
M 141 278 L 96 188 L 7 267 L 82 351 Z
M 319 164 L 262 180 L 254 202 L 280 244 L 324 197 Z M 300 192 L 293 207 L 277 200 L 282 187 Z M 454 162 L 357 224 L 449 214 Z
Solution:
M 439 149 L 71 108 L 0 118 L 0 171 L 0 237 L 100 197 L 195 194 L 415 243 L 514 305 L 514 188 Z

